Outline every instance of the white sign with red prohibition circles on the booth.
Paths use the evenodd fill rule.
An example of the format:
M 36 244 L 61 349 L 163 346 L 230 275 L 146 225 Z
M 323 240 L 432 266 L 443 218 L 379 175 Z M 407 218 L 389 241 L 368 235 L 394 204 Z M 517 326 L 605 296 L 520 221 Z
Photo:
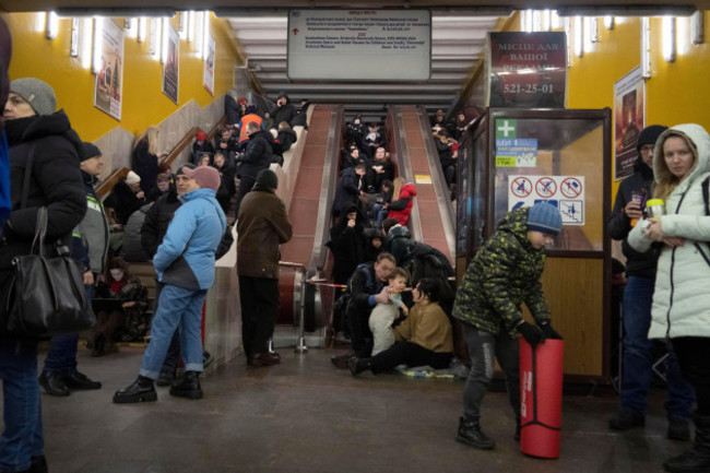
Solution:
M 545 201 L 565 225 L 584 225 L 584 176 L 508 176 L 508 210 Z

